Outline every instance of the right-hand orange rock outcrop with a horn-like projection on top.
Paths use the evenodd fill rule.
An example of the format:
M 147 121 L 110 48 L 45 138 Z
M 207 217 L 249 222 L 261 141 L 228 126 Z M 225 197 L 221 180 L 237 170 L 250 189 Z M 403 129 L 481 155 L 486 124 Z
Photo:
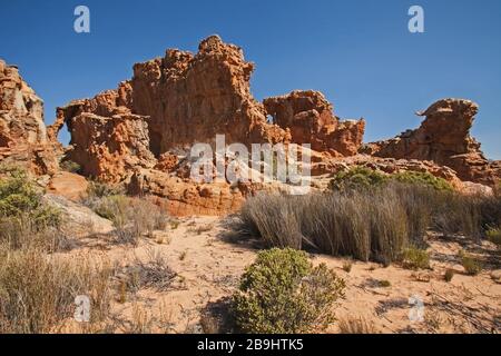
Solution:
M 494 185 L 499 164 L 490 164 L 470 136 L 479 106 L 470 100 L 443 99 L 428 110 L 421 127 L 386 141 L 369 145 L 370 154 L 397 159 L 431 160 L 454 169 L 462 180 Z

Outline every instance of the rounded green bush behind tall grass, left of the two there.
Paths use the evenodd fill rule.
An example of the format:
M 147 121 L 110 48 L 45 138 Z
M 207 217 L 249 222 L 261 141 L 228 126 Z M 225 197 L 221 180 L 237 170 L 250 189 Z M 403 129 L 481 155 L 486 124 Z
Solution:
M 347 171 L 337 172 L 330 181 L 328 188 L 332 190 L 366 189 L 381 186 L 386 180 L 386 175 L 357 166 Z

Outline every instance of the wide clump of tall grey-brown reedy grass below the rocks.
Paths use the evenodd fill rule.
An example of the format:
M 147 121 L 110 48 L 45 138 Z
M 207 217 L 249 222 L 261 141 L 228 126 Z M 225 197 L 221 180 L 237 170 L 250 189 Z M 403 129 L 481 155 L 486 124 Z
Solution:
M 497 196 L 391 179 L 305 196 L 261 194 L 244 204 L 237 229 L 267 246 L 387 264 L 402 260 L 405 248 L 423 247 L 428 230 L 479 239 L 500 218 Z

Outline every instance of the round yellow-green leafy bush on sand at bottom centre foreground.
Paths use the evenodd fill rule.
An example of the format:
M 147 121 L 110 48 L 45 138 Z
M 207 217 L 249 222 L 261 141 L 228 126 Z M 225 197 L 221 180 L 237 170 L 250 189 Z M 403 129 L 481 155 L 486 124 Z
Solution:
M 311 333 L 333 323 L 333 306 L 344 296 L 343 279 L 325 265 L 313 267 L 303 251 L 258 254 L 234 295 L 234 316 L 252 334 Z

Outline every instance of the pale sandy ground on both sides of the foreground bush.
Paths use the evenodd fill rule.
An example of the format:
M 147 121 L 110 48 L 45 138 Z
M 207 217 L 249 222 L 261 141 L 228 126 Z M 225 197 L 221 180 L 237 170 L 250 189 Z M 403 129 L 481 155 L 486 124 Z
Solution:
M 255 245 L 235 241 L 226 221 L 183 218 L 166 231 L 143 238 L 137 247 L 86 239 L 69 254 L 106 258 L 121 267 L 161 256 L 177 274 L 171 288 L 118 291 L 112 301 L 118 332 L 200 333 L 202 312 L 232 295 L 257 253 Z M 346 273 L 345 259 L 312 255 L 314 264 L 327 264 L 346 281 L 345 299 L 336 309 L 338 320 L 362 319 L 373 333 L 499 333 L 501 285 L 494 278 L 499 277 L 499 256 L 493 247 L 438 237 L 431 237 L 429 244 L 432 269 L 421 271 L 353 261 Z M 463 273 L 458 258 L 462 248 L 484 259 L 480 275 Z M 449 268 L 456 273 L 446 283 L 443 275 Z M 328 332 L 337 333 L 338 324 Z

